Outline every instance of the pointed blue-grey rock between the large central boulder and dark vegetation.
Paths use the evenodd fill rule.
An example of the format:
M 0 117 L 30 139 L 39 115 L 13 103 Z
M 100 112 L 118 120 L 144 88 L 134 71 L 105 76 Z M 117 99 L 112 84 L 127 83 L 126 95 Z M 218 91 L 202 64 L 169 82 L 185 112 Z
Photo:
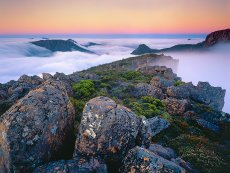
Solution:
M 160 117 L 153 117 L 148 119 L 148 123 L 151 129 L 152 137 L 163 131 L 164 129 L 168 128 L 170 123 Z

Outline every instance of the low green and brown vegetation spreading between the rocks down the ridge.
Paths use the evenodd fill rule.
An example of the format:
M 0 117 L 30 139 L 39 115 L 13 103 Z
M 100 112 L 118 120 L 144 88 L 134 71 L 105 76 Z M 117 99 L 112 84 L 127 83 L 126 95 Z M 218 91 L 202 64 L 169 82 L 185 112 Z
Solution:
M 170 122 L 168 129 L 162 131 L 153 142 L 160 142 L 164 146 L 173 148 L 183 159 L 189 161 L 198 170 L 205 173 L 226 172 L 230 161 L 230 149 L 221 147 L 221 141 L 228 141 L 229 125 L 223 123 L 223 134 L 216 134 L 201 128 L 195 119 L 185 119 L 181 116 L 171 116 L 165 111 L 163 102 L 151 96 L 134 97 L 133 87 L 137 83 L 149 83 L 151 76 L 139 71 L 95 71 L 97 80 L 82 80 L 73 85 L 74 95 L 71 97 L 76 111 L 76 127 L 78 127 L 84 105 L 97 96 L 107 96 L 117 103 L 125 105 L 138 116 L 151 118 L 161 116 Z M 184 82 L 176 81 L 175 86 Z M 194 110 L 214 113 L 212 109 L 201 103 L 194 102 Z M 206 115 L 205 115 L 206 116 Z M 208 116 L 208 115 L 207 115 Z

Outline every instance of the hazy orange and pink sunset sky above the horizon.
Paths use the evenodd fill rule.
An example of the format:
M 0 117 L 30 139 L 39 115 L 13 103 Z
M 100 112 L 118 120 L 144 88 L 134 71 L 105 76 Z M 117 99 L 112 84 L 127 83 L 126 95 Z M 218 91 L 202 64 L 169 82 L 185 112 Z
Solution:
M 0 0 L 0 34 L 209 33 L 230 0 Z

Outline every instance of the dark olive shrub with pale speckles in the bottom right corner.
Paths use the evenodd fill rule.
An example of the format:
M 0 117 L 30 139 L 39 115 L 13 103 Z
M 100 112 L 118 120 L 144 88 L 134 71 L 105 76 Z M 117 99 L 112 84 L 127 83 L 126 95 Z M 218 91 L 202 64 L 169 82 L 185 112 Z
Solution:
M 169 146 L 201 172 L 226 172 L 227 164 L 222 155 L 216 151 L 215 144 L 207 138 L 194 135 L 180 135 L 169 142 Z

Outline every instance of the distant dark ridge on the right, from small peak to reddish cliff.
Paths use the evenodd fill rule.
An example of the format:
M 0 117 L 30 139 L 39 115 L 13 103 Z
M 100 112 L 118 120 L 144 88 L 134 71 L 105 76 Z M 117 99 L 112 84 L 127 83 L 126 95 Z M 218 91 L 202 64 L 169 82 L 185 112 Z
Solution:
M 141 44 L 131 54 L 141 55 L 145 53 L 164 53 L 174 51 L 205 51 L 219 43 L 230 43 L 230 29 L 219 30 L 207 35 L 205 41 L 197 44 L 178 44 L 170 48 L 151 49 L 145 44 Z

